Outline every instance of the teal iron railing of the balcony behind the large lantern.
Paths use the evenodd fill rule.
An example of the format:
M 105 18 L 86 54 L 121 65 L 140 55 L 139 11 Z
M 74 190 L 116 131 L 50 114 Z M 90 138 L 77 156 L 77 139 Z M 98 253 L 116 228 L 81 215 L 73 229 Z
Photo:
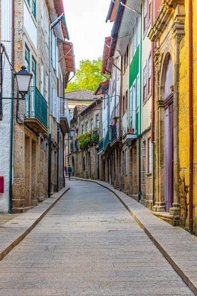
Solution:
M 47 127 L 47 102 L 35 86 L 30 86 L 26 96 L 25 118 L 38 118 Z

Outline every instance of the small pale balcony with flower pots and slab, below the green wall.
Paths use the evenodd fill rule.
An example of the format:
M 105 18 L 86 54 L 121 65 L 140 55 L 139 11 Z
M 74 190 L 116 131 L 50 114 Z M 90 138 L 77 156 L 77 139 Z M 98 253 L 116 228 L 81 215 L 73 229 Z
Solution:
M 135 127 L 135 113 L 136 111 L 127 110 L 122 117 L 122 141 L 124 143 L 131 142 L 136 136 Z

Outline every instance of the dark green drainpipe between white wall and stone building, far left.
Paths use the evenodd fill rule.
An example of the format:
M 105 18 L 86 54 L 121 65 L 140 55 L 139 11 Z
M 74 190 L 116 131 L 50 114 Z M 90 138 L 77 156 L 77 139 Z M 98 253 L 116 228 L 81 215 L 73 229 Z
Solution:
M 12 0 L 12 37 L 11 37 L 11 63 L 14 68 L 14 0 Z M 14 98 L 14 73 L 12 72 L 11 97 Z M 13 179 L 13 131 L 14 131 L 14 100 L 11 100 L 10 120 L 10 163 L 9 163 L 9 210 L 12 213 L 12 179 Z

